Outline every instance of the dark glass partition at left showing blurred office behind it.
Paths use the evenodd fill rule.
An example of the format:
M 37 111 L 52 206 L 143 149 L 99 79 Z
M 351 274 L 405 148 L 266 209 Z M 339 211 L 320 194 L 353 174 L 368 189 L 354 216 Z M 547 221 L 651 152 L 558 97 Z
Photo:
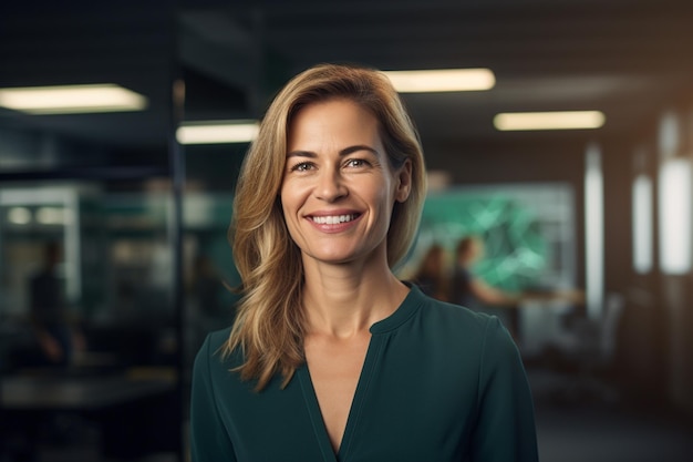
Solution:
M 3 412 L 12 418 L 2 432 L 11 437 L 10 458 L 75 444 L 99 456 L 176 451 L 180 348 L 172 199 L 162 184 L 0 188 L 0 366 Z M 123 419 L 127 431 L 118 429 Z

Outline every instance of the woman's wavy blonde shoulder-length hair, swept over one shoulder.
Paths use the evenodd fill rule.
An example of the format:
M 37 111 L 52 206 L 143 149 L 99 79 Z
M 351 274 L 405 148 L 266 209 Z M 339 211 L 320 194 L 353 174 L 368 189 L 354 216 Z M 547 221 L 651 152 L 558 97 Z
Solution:
M 286 387 L 304 361 L 303 267 L 280 203 L 288 127 L 301 107 L 338 99 L 353 101 L 375 116 L 393 171 L 406 160 L 412 165 L 411 193 L 395 203 L 387 233 L 391 268 L 406 256 L 416 235 L 426 189 L 424 157 L 390 80 L 376 70 L 335 64 L 294 76 L 270 104 L 244 160 L 229 228 L 242 297 L 224 352 L 241 348 L 244 362 L 236 370 L 242 380 L 257 380 L 257 390 L 278 373 Z

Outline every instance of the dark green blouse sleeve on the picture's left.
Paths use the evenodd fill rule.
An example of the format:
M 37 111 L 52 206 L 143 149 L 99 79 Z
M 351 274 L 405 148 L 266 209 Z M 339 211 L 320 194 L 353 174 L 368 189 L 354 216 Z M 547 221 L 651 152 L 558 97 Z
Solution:
M 209 362 L 213 360 L 210 339 L 207 337 L 193 367 L 190 396 L 190 461 L 236 461 L 234 445 L 219 418 Z

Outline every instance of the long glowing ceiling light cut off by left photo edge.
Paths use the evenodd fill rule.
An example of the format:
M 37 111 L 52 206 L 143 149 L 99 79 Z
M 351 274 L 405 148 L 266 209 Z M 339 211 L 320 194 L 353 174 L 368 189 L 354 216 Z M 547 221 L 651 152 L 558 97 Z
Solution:
M 0 106 L 29 114 L 142 111 L 147 99 L 114 83 L 0 89 Z

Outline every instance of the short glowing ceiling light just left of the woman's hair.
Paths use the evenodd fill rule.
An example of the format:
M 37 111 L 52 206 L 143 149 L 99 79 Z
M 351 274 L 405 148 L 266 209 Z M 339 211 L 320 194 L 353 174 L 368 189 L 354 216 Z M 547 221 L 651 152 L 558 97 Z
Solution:
M 258 135 L 257 122 L 190 122 L 176 131 L 180 144 L 249 143 Z

